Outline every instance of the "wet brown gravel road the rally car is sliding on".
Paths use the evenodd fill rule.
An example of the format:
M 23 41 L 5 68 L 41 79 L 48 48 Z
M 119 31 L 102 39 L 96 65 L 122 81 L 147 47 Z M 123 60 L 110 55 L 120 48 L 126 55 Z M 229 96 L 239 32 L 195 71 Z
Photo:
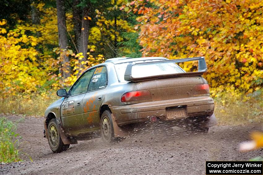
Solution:
M 3 116 L 3 115 L 2 115 Z M 1 116 L 0 116 L 1 117 Z M 8 115 L 10 120 L 21 116 Z M 213 126 L 208 134 L 145 124 L 120 143 L 103 144 L 101 138 L 79 141 L 54 154 L 43 138 L 43 118 L 24 117 L 17 133 L 23 162 L 0 164 L 0 174 L 205 174 L 206 160 L 248 160 L 263 149 L 242 153 L 240 142 L 262 124 Z

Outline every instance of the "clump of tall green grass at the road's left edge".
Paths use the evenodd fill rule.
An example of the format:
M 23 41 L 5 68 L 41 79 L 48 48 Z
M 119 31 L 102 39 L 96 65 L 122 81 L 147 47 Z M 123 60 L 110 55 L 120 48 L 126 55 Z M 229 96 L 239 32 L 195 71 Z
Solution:
M 21 161 L 17 146 L 19 140 L 13 140 L 18 136 L 15 133 L 16 123 L 7 120 L 5 117 L 0 118 L 0 162 L 10 163 Z

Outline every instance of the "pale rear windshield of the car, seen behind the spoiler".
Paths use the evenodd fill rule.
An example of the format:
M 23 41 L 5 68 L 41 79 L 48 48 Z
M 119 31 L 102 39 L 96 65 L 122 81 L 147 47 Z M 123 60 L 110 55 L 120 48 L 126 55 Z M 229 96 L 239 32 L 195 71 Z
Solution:
M 115 69 L 118 75 L 120 82 L 125 82 L 124 73 L 126 71 L 127 65 L 131 63 L 143 63 L 143 62 L 153 62 L 153 61 L 162 61 L 163 59 L 154 59 L 154 60 L 143 60 L 143 61 L 133 61 L 127 63 L 115 64 Z M 173 73 L 182 73 L 185 72 L 175 63 L 152 63 L 152 64 L 141 64 L 134 65 L 131 69 L 132 77 L 149 77 L 155 75 L 166 75 Z

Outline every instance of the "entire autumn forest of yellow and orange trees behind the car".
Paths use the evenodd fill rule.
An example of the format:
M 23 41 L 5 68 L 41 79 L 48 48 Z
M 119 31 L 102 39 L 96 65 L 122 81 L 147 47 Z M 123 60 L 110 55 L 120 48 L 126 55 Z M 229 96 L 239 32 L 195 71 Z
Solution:
M 204 56 L 218 112 L 226 117 L 234 104 L 238 116 L 236 107 L 249 105 L 243 118 L 262 115 L 263 1 L 2 0 L 0 6 L 0 112 L 43 115 L 56 90 L 109 58 Z M 180 66 L 192 70 L 197 63 Z

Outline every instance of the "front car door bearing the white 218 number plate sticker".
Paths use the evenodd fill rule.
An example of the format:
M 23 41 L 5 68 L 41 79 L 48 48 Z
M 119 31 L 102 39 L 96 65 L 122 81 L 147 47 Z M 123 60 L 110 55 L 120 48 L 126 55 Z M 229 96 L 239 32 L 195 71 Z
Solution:
M 88 91 L 94 69 L 85 72 L 74 83 L 69 90 L 69 97 L 65 98 L 61 104 L 61 120 L 64 129 L 68 133 L 84 131 L 84 122 L 82 117 L 82 100 Z

